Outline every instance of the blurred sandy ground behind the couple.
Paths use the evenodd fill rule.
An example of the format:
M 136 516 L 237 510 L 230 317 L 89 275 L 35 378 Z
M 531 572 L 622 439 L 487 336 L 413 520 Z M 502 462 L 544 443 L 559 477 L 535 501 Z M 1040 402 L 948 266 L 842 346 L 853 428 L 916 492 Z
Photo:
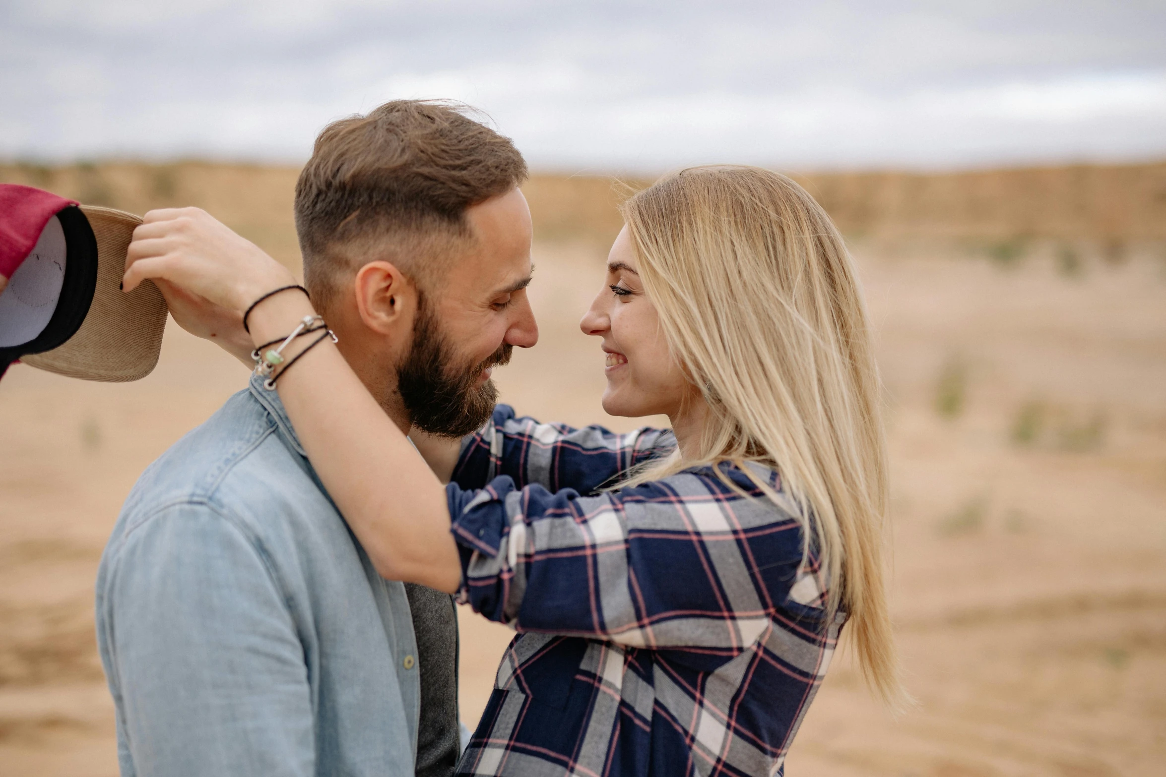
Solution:
M 258 193 L 257 176 L 269 178 Z M 294 171 L 252 170 L 204 190 L 198 181 L 168 193 L 155 174 L 154 203 L 185 196 L 243 213 L 224 218 L 294 264 Z M 602 355 L 577 329 L 605 248 L 542 224 L 539 234 L 556 239 L 535 248 L 542 337 L 499 372 L 503 400 L 628 429 L 603 414 Z M 920 707 L 892 719 L 843 656 L 787 774 L 1161 774 L 1164 243 L 854 236 L 887 388 L 893 608 Z M 23 366 L 0 382 L 0 775 L 117 772 L 92 630 L 101 548 L 142 468 L 246 376 L 171 323 L 157 369 L 138 383 Z M 510 634 L 471 613 L 462 627 L 472 725 Z

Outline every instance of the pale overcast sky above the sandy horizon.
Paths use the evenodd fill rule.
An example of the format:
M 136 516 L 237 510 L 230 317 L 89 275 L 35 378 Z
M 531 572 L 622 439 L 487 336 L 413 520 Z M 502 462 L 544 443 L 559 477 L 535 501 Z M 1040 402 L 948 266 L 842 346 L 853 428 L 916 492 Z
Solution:
M 1166 0 L 0 0 L 0 156 L 301 162 L 400 97 L 534 167 L 1166 157 Z

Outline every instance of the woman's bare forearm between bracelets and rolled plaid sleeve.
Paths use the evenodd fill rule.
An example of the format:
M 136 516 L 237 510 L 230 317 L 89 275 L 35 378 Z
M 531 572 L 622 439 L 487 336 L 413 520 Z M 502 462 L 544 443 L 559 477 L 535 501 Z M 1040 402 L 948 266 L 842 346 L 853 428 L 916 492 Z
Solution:
M 251 315 L 257 344 L 315 311 L 297 294 Z M 314 335 L 297 338 L 297 347 Z M 292 356 L 296 351 L 286 352 Z M 328 339 L 276 382 L 308 458 L 378 572 L 454 593 L 462 579 L 445 489 Z

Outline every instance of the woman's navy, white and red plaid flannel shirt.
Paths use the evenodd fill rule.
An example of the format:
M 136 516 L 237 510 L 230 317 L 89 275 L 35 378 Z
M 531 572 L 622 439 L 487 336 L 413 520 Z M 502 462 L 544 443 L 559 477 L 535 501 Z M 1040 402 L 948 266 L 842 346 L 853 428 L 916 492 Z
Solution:
M 457 774 L 782 774 L 845 619 L 826 622 L 798 522 L 738 468 L 750 496 L 711 468 L 595 493 L 674 445 L 506 405 L 463 443 L 459 599 L 519 634 Z

